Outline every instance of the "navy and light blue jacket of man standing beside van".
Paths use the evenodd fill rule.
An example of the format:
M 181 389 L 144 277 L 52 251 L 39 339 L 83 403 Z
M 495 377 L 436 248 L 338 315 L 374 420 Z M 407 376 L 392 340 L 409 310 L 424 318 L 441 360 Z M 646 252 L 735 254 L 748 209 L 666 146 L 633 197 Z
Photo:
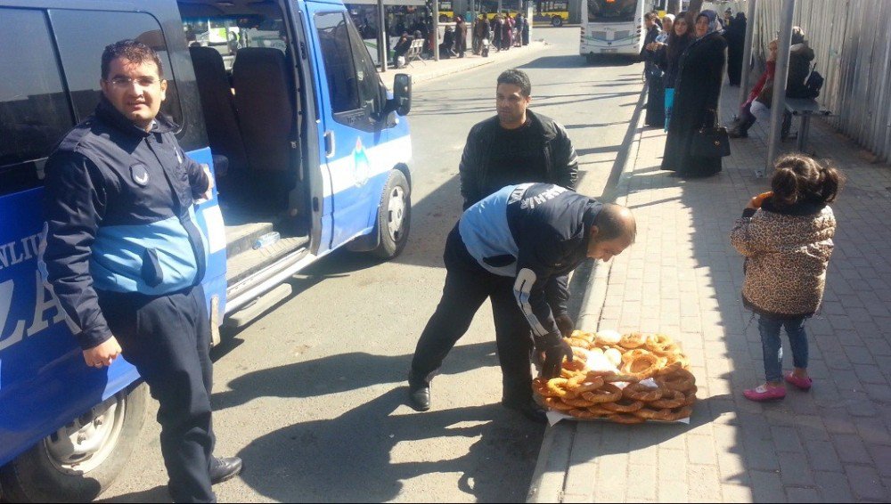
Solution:
M 111 337 L 97 291 L 160 296 L 204 277 L 193 203 L 209 180 L 175 129 L 159 117 L 146 132 L 103 97 L 46 163 L 45 280 L 84 349 Z

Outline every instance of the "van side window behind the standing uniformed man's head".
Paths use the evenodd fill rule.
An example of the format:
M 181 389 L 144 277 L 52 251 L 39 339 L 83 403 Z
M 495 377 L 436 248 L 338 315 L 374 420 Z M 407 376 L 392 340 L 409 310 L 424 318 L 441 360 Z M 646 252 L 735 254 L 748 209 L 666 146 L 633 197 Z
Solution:
M 106 45 L 133 38 L 158 53 L 164 78 L 168 80 L 167 98 L 161 112 L 183 124 L 183 112 L 170 67 L 167 45 L 158 21 L 143 12 L 50 11 L 53 32 L 59 41 L 62 67 L 68 79 L 71 101 L 78 122 L 93 113 L 99 102 L 102 78 L 102 51 Z

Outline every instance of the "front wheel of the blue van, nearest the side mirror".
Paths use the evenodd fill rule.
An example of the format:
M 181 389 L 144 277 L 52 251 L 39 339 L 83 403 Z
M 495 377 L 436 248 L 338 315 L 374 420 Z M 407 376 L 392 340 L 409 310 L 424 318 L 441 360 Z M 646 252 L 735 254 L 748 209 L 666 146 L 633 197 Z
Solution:
M 402 253 L 412 224 L 412 189 L 399 170 L 390 172 L 380 197 L 378 232 L 380 244 L 376 256 L 392 259 Z

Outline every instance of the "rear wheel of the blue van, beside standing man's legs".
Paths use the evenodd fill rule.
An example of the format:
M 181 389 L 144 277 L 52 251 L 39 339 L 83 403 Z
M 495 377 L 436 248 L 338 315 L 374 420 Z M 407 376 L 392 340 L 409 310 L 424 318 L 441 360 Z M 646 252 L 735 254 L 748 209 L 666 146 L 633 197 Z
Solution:
M 87 502 L 120 474 L 143 428 L 144 383 L 120 392 L 0 468 L 4 499 Z

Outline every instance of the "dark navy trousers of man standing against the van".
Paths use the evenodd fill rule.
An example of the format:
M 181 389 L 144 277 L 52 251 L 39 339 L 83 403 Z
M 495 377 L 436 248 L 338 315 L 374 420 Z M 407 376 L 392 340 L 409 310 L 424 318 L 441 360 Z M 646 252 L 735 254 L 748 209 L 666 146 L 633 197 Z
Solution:
M 158 400 L 161 453 L 176 502 L 212 502 L 210 321 L 200 286 L 165 296 L 101 292 L 99 305 L 124 358 Z

